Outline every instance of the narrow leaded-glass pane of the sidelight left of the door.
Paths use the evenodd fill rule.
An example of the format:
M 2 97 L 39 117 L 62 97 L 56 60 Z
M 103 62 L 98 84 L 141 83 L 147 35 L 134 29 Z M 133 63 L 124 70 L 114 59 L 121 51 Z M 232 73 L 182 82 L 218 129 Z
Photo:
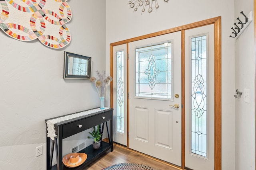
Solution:
M 116 131 L 124 133 L 124 51 L 116 52 Z

